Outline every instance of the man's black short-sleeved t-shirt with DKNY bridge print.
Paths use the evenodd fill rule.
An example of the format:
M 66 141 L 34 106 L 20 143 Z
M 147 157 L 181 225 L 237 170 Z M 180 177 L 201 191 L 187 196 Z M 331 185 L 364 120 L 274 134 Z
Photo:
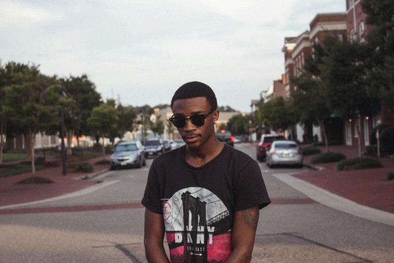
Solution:
M 271 203 L 260 167 L 228 145 L 193 167 L 184 149 L 153 160 L 141 203 L 163 215 L 172 263 L 222 262 L 232 251 L 234 213 Z

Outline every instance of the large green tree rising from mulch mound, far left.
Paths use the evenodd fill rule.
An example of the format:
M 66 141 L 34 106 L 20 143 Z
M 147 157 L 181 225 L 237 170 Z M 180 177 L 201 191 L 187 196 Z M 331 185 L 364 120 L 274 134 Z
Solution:
M 5 88 L 6 102 L 11 119 L 23 130 L 34 174 L 35 136 L 59 122 L 59 85 L 55 76 L 40 74 L 36 65 L 25 65 L 23 71 L 14 74 L 13 82 Z

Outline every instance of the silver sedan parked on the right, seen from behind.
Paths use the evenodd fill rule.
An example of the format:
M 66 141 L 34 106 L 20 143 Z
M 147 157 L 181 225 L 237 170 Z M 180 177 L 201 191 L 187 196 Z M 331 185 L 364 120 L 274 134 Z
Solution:
M 303 155 L 296 142 L 275 141 L 267 155 L 267 166 L 296 165 L 302 167 Z

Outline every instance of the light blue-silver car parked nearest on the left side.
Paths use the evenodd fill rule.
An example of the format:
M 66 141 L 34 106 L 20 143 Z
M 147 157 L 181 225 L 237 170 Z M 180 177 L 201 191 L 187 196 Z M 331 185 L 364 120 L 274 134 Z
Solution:
M 145 149 L 139 141 L 119 143 L 111 155 L 111 167 L 141 167 L 146 165 Z

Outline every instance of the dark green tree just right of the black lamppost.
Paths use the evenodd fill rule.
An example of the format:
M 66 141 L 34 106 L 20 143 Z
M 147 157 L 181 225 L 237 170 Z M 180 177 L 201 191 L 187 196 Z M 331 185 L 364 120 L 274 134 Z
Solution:
M 79 146 L 80 136 L 92 135 L 87 120 L 93 108 L 101 104 L 101 95 L 96 91 L 95 84 L 85 74 L 81 77 L 70 76 L 60 79 L 60 85 L 65 95 L 62 103 L 65 107 L 67 155 L 71 155 L 72 136 L 76 136 L 77 146 Z

